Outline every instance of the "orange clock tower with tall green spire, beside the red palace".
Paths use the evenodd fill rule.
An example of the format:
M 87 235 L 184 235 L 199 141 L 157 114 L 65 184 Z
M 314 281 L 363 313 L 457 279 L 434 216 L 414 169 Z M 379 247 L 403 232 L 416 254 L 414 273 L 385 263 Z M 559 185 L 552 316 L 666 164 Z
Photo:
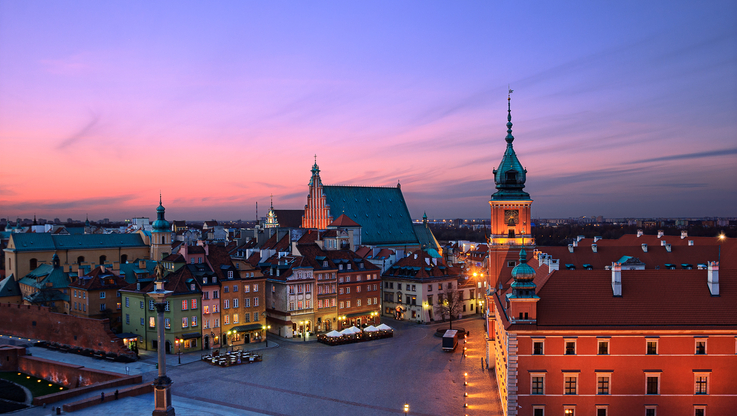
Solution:
M 512 91 L 510 90 L 510 93 Z M 489 284 L 498 287 L 504 280 L 509 267 L 510 273 L 517 259 L 513 254 L 521 246 L 534 245 L 530 207 L 532 199 L 524 191 L 527 170 L 522 167 L 512 142 L 511 96 L 507 96 L 507 149 L 499 167 L 494 169 L 494 183 L 497 191 L 491 196 L 491 236 L 489 238 Z M 513 253 L 510 252 L 511 249 Z M 509 259 L 507 258 L 509 256 Z M 511 274 L 510 274 L 511 276 Z

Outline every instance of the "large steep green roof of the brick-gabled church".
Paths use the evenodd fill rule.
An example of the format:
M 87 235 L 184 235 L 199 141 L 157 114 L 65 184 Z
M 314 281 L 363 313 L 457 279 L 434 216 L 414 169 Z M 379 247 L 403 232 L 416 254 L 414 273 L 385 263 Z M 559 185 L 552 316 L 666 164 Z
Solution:
M 363 244 L 418 244 L 401 188 L 326 185 L 323 191 L 333 218 L 345 213 L 361 225 Z

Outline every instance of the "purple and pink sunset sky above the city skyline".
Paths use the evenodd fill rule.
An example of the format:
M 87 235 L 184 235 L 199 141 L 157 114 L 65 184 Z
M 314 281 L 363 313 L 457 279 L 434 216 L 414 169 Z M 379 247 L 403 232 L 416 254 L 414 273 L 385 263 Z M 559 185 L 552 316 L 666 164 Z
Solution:
M 0 0 L 0 217 L 488 218 L 508 84 L 533 217 L 737 216 L 737 3 L 601 3 Z

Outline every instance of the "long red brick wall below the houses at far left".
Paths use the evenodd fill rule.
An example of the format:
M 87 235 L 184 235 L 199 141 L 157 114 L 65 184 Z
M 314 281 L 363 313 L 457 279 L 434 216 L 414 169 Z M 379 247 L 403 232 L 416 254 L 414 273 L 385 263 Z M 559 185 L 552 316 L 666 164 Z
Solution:
M 50 312 L 43 306 L 0 303 L 0 333 L 106 353 L 131 354 L 107 320 Z

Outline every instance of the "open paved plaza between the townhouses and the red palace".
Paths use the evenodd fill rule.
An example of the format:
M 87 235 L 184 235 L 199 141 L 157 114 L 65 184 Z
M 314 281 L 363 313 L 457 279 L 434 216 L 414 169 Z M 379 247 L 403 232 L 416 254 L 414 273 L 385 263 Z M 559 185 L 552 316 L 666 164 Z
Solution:
M 334 347 L 270 339 L 270 348 L 261 350 L 261 363 L 216 367 L 198 361 L 199 354 L 182 355 L 182 365 L 168 369 L 174 408 L 178 415 L 397 415 L 408 403 L 410 415 L 502 414 L 493 373 L 482 369 L 481 319 L 457 324 L 471 332 L 466 358 L 463 343 L 454 353 L 442 352 L 440 338 L 433 336 L 440 325 L 384 322 L 396 329 L 393 338 Z M 98 362 L 78 359 L 88 360 L 78 364 L 89 367 Z M 177 357 L 169 355 L 167 362 L 176 364 Z M 142 372 L 150 382 L 156 376 L 152 363 L 146 357 L 129 370 Z M 468 387 L 463 385 L 464 373 Z M 148 415 L 152 410 L 149 394 L 74 414 Z M 17 414 L 50 413 L 48 408 L 33 408 Z

